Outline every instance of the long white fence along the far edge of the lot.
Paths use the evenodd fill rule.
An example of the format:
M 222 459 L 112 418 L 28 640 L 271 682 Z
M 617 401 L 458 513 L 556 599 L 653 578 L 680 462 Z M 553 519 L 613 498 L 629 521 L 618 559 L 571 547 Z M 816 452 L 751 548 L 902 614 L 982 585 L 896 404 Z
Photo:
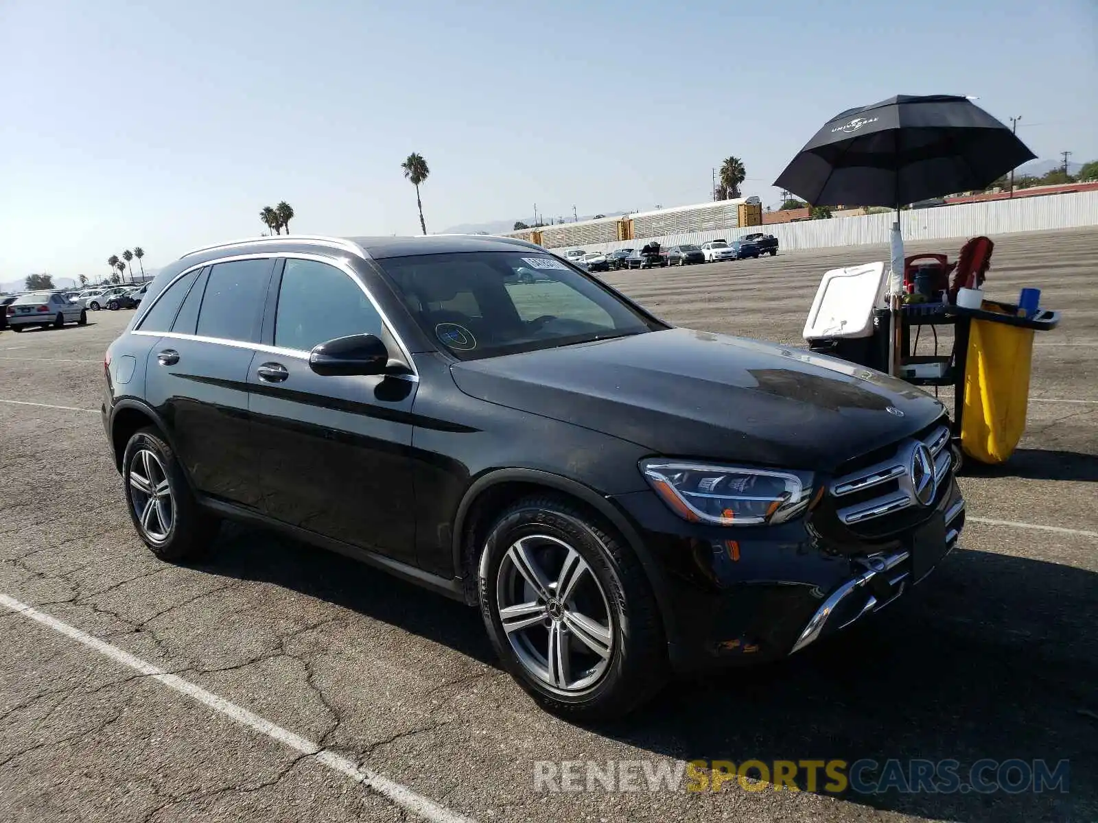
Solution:
M 668 247 L 683 243 L 702 244 L 718 237 L 733 240 L 752 232 L 774 235 L 785 251 L 828 246 L 887 244 L 888 232 L 895 219 L 895 212 L 870 214 L 863 217 L 843 217 L 842 219 L 776 223 L 766 226 L 712 229 L 660 237 L 637 237 L 632 240 L 590 244 L 582 248 L 587 251 L 613 251 L 619 248 L 640 248 L 647 240 L 658 240 L 660 245 Z M 905 240 L 939 240 L 976 235 L 994 236 L 1009 232 L 1098 226 L 1098 192 L 1047 194 L 1039 198 L 962 203 L 937 208 L 912 208 L 900 212 L 900 222 Z M 553 252 L 563 255 L 569 248 L 580 247 L 554 248 Z

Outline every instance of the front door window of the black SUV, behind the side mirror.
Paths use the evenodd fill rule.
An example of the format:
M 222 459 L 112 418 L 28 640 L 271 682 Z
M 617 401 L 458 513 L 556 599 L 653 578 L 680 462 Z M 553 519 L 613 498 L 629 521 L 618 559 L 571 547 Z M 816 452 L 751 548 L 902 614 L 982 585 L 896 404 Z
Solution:
M 348 335 L 381 335 L 378 309 L 345 272 L 314 260 L 285 261 L 274 315 L 274 345 L 310 351 Z

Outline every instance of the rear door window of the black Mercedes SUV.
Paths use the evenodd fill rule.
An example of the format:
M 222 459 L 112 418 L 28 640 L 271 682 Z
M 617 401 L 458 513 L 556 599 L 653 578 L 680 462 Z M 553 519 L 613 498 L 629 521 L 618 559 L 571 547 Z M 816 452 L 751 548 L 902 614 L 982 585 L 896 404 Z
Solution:
M 272 260 L 236 260 L 210 271 L 198 335 L 259 342 L 260 309 L 267 296 Z

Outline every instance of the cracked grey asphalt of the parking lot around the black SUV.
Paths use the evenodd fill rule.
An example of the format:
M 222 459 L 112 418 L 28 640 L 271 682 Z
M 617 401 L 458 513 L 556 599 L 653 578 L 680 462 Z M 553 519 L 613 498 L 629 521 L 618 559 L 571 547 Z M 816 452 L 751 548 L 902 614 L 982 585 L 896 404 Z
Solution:
M 199 564 L 156 561 L 98 412 L 103 351 L 132 313 L 0 332 L 0 820 L 1098 820 L 1098 230 L 994 239 L 989 296 L 1035 285 L 1063 320 L 1037 337 L 1019 451 L 961 478 L 964 549 L 832 641 L 676 680 L 595 728 L 537 709 L 475 610 L 381 572 L 243 527 Z M 802 345 L 822 272 L 886 258 L 605 277 L 671 323 Z M 533 779 L 537 760 L 916 757 L 1069 759 L 1069 790 L 556 793 Z

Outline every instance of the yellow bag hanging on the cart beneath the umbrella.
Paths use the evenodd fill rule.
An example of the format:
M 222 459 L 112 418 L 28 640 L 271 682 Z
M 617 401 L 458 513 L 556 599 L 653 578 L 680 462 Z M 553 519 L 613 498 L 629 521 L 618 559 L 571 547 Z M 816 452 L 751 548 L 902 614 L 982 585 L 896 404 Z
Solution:
M 961 448 L 981 463 L 1002 463 L 1026 430 L 1033 329 L 972 322 L 964 375 Z

